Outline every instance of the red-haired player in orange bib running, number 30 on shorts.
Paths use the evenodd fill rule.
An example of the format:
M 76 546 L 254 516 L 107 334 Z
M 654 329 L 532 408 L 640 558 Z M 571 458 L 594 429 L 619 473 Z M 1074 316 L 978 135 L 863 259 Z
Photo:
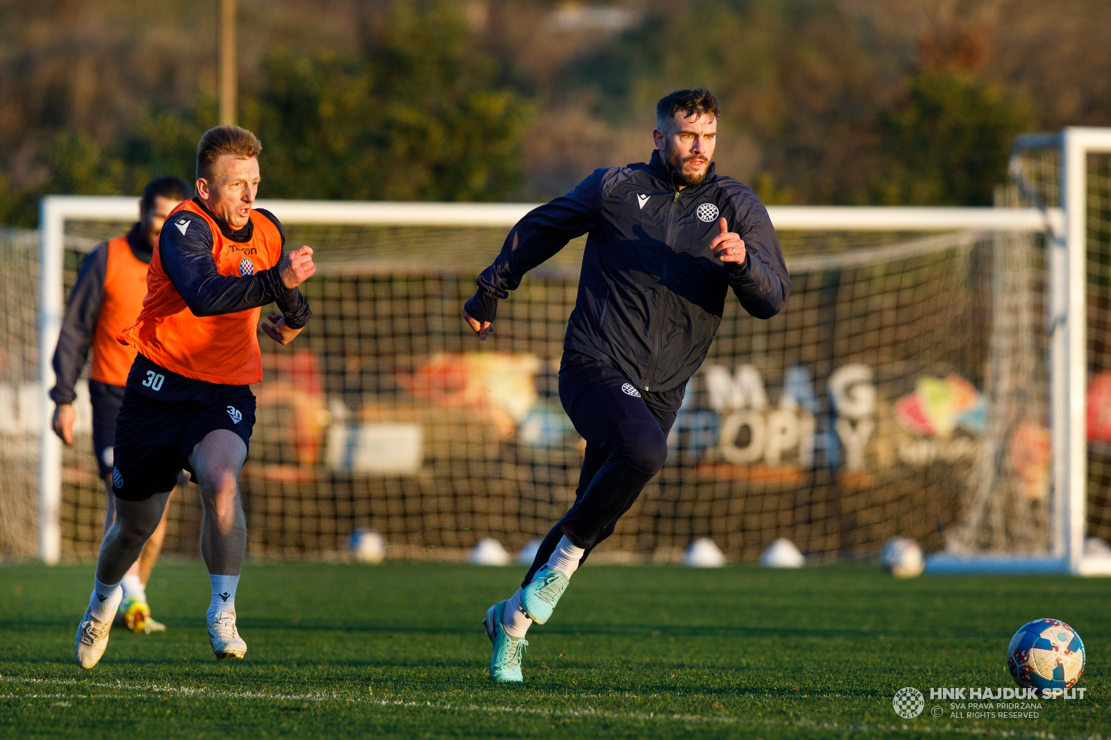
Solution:
M 197 146 L 197 197 L 167 219 L 147 273 L 138 320 L 117 336 L 138 354 L 116 426 L 112 494 L 116 521 L 97 560 L 74 658 L 92 668 L 108 647 L 120 580 L 162 518 L 178 473 L 200 487 L 201 556 L 212 600 L 209 642 L 217 658 L 242 659 L 236 588 L 247 549 L 239 473 L 254 427 L 250 384 L 262 380 L 259 313 L 281 313 L 262 330 L 288 344 L 309 320 L 298 286 L 312 277 L 309 247 L 283 254 L 286 232 L 254 210 L 259 153 L 253 133 L 210 129 Z

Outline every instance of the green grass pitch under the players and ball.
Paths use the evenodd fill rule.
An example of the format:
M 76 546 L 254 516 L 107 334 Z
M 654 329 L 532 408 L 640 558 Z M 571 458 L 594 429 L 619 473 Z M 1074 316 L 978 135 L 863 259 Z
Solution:
M 1065 738 L 1111 728 L 1105 580 L 588 566 L 530 632 L 524 686 L 497 686 L 480 620 L 520 574 L 251 564 L 237 597 L 249 651 L 231 663 L 208 646 L 203 567 L 167 562 L 148 594 L 170 629 L 113 630 L 100 664 L 81 671 L 73 633 L 91 567 L 0 566 L 0 734 Z M 980 720 L 930 701 L 931 687 L 1013 686 L 1008 641 L 1048 616 L 1084 639 L 1083 700 L 1042 701 L 1037 719 Z M 908 686 L 927 697 L 912 720 L 891 706 Z

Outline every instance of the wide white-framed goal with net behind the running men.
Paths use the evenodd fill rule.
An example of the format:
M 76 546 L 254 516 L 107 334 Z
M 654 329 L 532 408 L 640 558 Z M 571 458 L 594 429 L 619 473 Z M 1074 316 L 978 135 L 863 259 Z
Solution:
M 126 231 L 136 206 L 56 202 L 60 302 L 83 254 Z M 302 286 L 313 318 L 298 340 L 260 332 L 266 380 L 241 479 L 249 553 L 343 557 L 360 528 L 402 558 L 542 537 L 573 500 L 582 460 L 557 376 L 584 240 L 532 271 L 479 343 L 462 304 L 527 207 L 264 206 L 319 269 Z M 727 302 L 663 471 L 598 557 L 674 560 L 709 537 L 753 559 L 785 537 L 814 560 L 852 559 L 897 534 L 927 551 L 1052 554 L 1044 214 L 771 213 L 794 286 L 787 307 L 760 321 Z M 36 402 L 37 367 L 53 352 L 34 329 L 37 244 L 7 239 L 0 404 L 12 411 L 0 410 L 0 464 L 18 474 L 0 502 L 18 511 L 3 527 L 33 517 L 38 479 L 41 539 L 57 542 L 40 543 L 44 557 L 91 558 L 104 497 L 88 393 L 56 464 L 42 433 L 51 407 Z M 196 554 L 200 518 L 196 487 L 182 487 L 166 551 Z M 33 533 L 19 543 L 9 529 L 4 552 L 28 554 Z

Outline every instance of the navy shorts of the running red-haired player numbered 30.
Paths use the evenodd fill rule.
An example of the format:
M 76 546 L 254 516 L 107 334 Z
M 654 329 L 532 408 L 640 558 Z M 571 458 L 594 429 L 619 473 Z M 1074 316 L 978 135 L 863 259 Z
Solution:
M 217 429 L 239 434 L 250 449 L 254 394 L 229 386 L 217 399 L 162 401 L 128 388 L 116 426 L 112 492 L 124 501 L 144 501 L 173 490 L 189 454 Z

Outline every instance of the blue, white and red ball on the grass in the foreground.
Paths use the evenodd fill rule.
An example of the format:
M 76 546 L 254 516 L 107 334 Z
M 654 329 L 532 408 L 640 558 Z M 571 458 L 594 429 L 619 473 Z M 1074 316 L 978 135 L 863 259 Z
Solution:
M 1084 643 L 1064 622 L 1035 619 L 1011 638 L 1007 667 L 1019 686 L 1071 689 L 1084 672 Z

